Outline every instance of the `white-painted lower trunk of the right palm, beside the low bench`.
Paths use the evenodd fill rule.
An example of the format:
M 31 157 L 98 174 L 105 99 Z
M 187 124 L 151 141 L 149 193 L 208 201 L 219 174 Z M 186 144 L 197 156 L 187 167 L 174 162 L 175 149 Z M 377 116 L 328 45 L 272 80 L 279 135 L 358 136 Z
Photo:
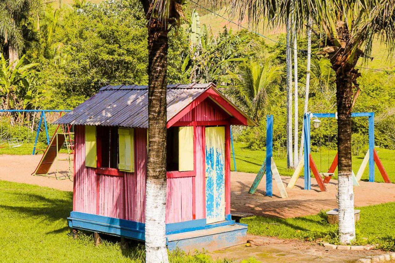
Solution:
M 350 244 L 355 239 L 354 189 L 351 174 L 339 174 L 338 184 L 340 243 Z

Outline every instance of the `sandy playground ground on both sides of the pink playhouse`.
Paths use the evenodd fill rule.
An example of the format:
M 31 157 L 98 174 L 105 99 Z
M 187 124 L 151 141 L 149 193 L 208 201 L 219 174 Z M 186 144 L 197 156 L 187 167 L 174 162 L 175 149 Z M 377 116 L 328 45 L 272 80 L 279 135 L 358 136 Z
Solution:
M 60 158 L 66 158 L 67 154 L 60 154 Z M 32 176 L 41 155 L 1 155 L 0 156 L 0 180 L 22 182 L 47 186 L 64 191 L 73 190 L 73 182 L 69 179 L 56 180 L 55 178 Z M 68 173 L 68 162 L 59 162 L 60 173 Z M 50 175 L 54 175 L 56 165 L 53 165 Z M 262 216 L 279 216 L 282 218 L 305 216 L 316 214 L 323 209 L 337 207 L 335 194 L 337 181 L 331 180 L 326 184 L 327 192 L 320 192 L 316 180 L 311 179 L 312 190 L 303 190 L 303 178 L 299 178 L 293 189 L 288 189 L 288 198 L 281 198 L 273 181 L 273 197 L 265 196 L 265 177 L 263 177 L 254 195 L 248 193 L 255 174 L 231 173 L 231 209 L 238 212 L 250 212 Z M 288 184 L 290 177 L 282 177 L 282 181 Z M 374 205 L 395 201 L 395 184 L 359 182 L 360 187 L 354 187 L 355 206 Z

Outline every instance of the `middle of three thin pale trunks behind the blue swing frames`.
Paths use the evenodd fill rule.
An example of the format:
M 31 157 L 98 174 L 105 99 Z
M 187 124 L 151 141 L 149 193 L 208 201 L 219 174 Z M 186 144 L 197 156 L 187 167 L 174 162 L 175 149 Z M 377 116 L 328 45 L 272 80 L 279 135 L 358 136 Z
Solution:
M 295 28 L 295 26 L 293 27 Z M 294 88 L 294 107 L 295 107 L 295 113 L 294 113 L 294 118 L 293 118 L 293 164 L 296 166 L 299 160 L 299 154 L 298 154 L 298 115 L 299 115 L 299 103 L 298 103 L 298 86 L 297 86 L 297 33 L 296 30 L 293 31 L 293 83 L 295 88 Z

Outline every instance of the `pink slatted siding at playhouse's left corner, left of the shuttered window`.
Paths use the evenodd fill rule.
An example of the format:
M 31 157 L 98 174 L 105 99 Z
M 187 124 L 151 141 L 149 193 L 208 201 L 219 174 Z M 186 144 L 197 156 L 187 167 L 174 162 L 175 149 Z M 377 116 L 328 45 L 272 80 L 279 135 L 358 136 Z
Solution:
M 85 127 L 75 126 L 75 177 L 73 207 L 77 212 L 96 214 L 96 173 L 85 166 Z

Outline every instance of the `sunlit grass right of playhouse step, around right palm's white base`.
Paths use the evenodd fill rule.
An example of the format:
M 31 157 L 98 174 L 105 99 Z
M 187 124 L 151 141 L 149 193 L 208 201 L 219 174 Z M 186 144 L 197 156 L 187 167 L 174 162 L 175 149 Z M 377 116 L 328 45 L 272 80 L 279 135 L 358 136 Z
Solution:
M 361 220 L 355 225 L 355 244 L 378 244 L 378 248 L 395 251 L 395 203 L 359 207 Z M 280 239 L 302 239 L 338 243 L 337 225 L 327 223 L 325 212 L 297 218 L 244 218 L 248 233 Z

